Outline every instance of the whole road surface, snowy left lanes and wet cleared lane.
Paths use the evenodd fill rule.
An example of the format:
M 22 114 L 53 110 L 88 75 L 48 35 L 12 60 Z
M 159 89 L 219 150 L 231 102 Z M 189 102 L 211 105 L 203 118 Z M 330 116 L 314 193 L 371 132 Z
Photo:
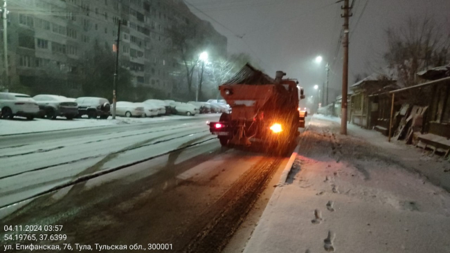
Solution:
M 290 153 L 222 148 L 206 120 L 0 138 L 0 203 L 3 214 L 17 209 L 2 224 L 63 225 L 66 238 L 51 243 L 94 251 L 220 252 Z

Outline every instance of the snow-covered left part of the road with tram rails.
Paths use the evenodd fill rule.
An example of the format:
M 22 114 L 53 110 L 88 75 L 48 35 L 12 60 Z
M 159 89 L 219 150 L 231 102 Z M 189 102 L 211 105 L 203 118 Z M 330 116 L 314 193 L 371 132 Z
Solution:
M 210 120 L 215 120 L 209 118 Z M 0 207 L 215 138 L 208 118 L 10 136 L 0 145 Z M 101 130 L 101 131 L 100 131 Z M 47 138 L 47 140 L 45 140 Z

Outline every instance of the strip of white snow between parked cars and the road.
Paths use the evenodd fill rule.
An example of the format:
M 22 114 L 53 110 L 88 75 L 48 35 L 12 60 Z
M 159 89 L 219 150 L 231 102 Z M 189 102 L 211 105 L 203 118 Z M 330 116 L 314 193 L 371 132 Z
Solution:
M 55 131 L 65 129 L 80 129 L 87 127 L 104 127 L 116 124 L 137 124 L 147 122 L 161 122 L 165 120 L 183 120 L 194 118 L 210 118 L 213 114 L 201 114 L 195 116 L 168 115 L 156 118 L 123 118 L 117 117 L 112 120 L 91 120 L 87 118 L 66 120 L 58 117 L 57 120 L 14 118 L 14 120 L 0 120 L 0 135 L 10 135 L 18 133 L 36 133 L 42 131 Z

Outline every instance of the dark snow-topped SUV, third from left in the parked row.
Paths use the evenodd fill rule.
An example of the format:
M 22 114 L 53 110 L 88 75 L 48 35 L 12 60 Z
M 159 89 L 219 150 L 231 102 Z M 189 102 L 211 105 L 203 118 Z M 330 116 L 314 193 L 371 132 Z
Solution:
M 111 104 L 102 97 L 78 97 L 75 102 L 78 104 L 78 117 L 87 115 L 90 119 L 107 119 L 111 115 Z

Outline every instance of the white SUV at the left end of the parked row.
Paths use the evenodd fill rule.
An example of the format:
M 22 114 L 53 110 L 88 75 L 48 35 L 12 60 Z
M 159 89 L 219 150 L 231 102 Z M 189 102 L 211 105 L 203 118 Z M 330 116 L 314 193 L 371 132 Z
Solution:
M 39 106 L 32 97 L 20 93 L 0 93 L 1 118 L 12 119 L 15 116 L 33 120 L 39 113 Z

